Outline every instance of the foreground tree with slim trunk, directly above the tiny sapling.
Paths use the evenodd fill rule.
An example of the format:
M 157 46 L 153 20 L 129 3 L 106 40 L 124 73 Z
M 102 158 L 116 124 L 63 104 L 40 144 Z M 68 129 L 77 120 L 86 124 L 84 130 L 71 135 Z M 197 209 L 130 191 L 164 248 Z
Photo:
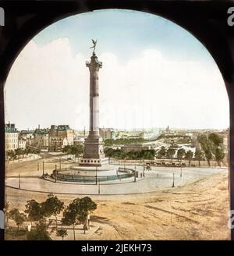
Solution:
M 64 202 L 60 201 L 58 197 L 53 194 L 48 194 L 48 199 L 41 203 L 41 212 L 46 217 L 50 217 L 51 215 L 55 215 L 56 219 L 56 229 L 58 229 L 58 219 L 57 215 L 62 212 L 64 208 Z

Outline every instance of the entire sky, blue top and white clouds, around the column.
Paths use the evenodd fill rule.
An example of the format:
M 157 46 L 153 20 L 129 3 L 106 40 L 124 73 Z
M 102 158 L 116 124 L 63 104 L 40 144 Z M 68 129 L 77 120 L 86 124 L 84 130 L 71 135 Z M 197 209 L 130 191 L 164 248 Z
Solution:
M 225 84 L 207 49 L 175 23 L 127 10 L 70 16 L 37 34 L 6 81 L 5 122 L 88 127 L 91 39 L 103 62 L 101 127 L 229 126 Z

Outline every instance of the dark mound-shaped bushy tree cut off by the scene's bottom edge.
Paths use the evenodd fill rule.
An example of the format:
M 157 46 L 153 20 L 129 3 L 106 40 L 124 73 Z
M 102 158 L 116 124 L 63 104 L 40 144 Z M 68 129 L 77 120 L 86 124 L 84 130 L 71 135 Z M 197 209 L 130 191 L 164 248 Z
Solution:
M 37 223 L 36 229 L 27 233 L 27 240 L 51 240 L 44 222 Z

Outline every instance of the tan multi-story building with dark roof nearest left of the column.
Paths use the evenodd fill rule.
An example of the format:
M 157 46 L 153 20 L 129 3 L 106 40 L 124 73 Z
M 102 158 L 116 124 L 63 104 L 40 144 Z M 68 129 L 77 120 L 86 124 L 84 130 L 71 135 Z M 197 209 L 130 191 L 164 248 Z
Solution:
M 49 130 L 49 151 L 62 151 L 66 145 L 74 144 L 74 130 L 69 125 L 52 125 Z

